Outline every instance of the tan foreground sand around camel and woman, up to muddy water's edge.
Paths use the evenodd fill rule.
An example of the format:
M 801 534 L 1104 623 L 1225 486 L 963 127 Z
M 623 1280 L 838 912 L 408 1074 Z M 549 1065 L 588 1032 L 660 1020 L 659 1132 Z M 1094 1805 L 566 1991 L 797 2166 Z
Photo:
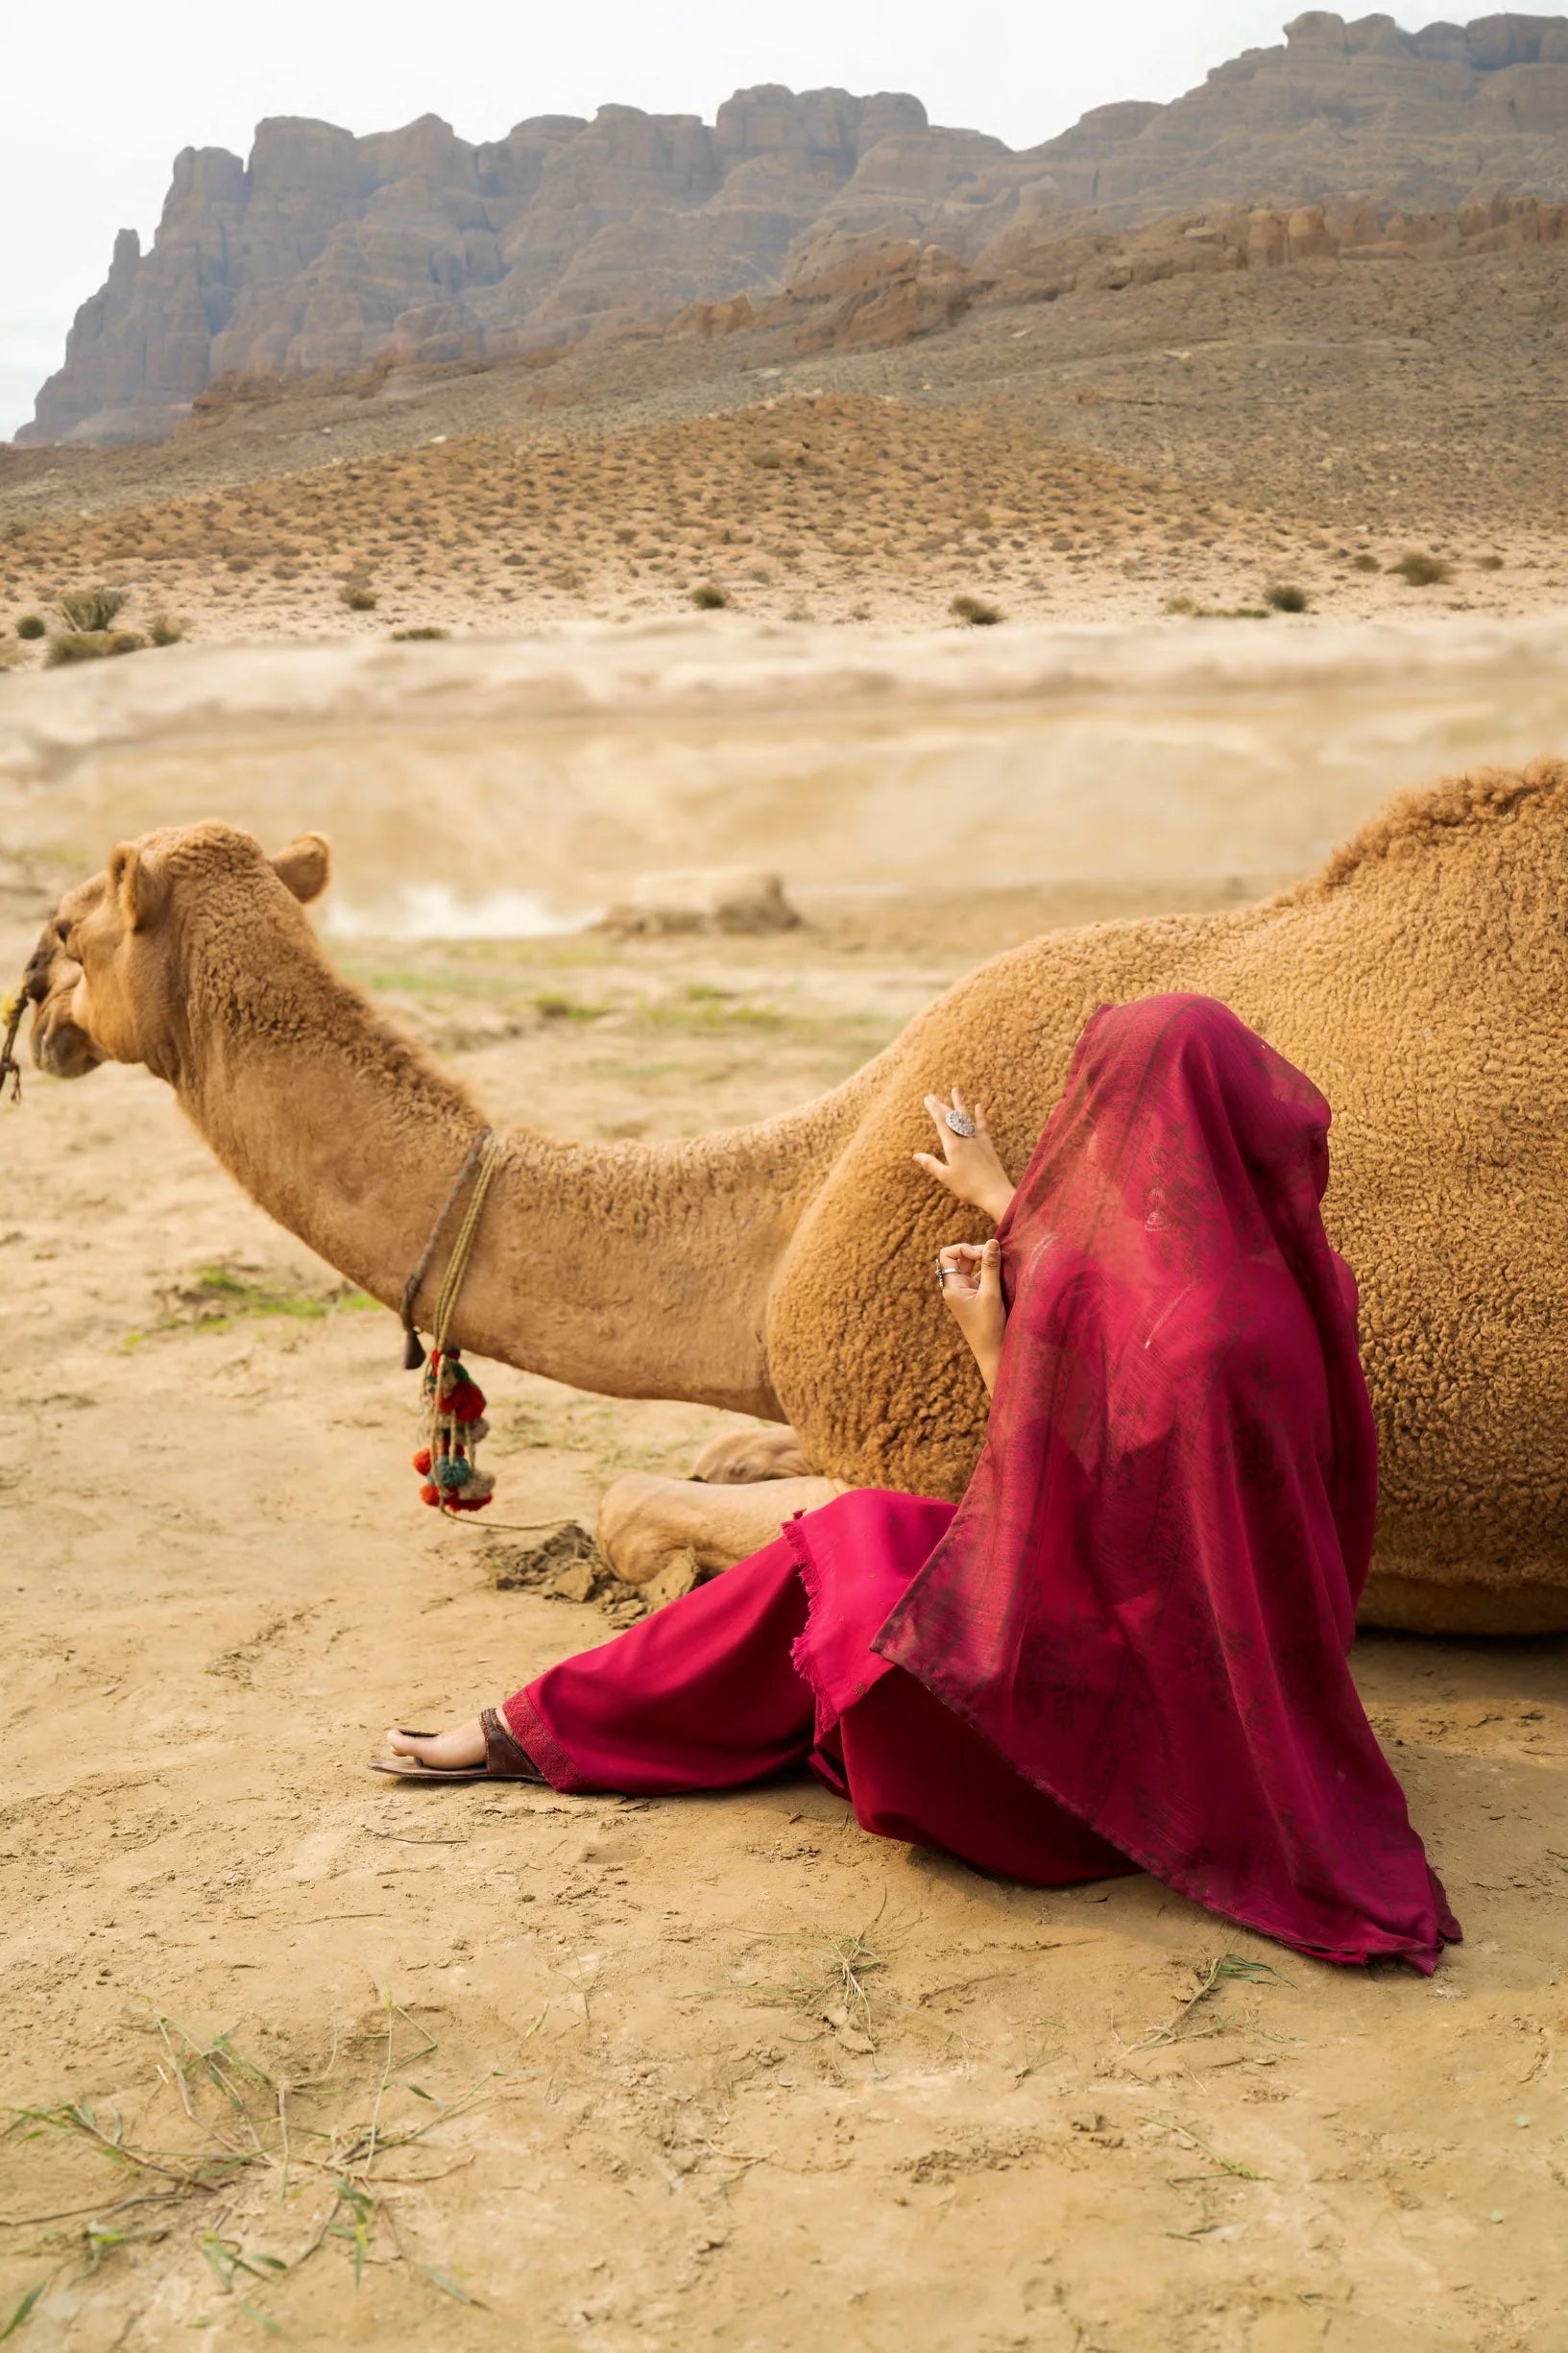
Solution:
M 679 1134 L 851 1068 L 966 962 L 950 913 L 919 955 L 849 922 L 592 962 L 404 944 L 397 984 L 498 1115 Z M 538 1012 L 562 984 L 611 1009 Z M 512 1033 L 463 1047 L 498 993 Z M 607 1619 L 496 1591 L 517 1539 L 430 1525 L 393 1318 L 155 1080 L 33 1082 L 0 1139 L 0 2097 L 54 2118 L 0 2141 L 0 2325 L 47 2282 L 24 2344 L 1561 2341 L 1561 1645 L 1359 1649 L 1467 1927 L 1432 1984 L 1295 1960 L 1150 1880 L 987 1880 L 804 1779 L 397 1788 L 362 1772 L 388 1718 L 468 1711 Z M 489 1386 L 517 1522 L 719 1426 Z M 1227 1955 L 1255 1974 L 1194 2002 Z

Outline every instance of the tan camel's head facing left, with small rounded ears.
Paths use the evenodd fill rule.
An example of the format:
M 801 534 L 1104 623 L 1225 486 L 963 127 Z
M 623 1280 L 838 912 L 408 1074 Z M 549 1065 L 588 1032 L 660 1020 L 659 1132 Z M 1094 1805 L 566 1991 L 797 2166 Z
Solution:
M 275 859 L 233 826 L 167 826 L 120 842 L 101 875 L 66 892 L 28 962 L 33 1061 L 54 1078 L 85 1078 L 101 1061 L 143 1061 L 174 1078 L 193 915 L 221 892 L 263 922 L 268 901 L 277 911 L 315 899 L 327 873 L 320 833 L 301 833 Z

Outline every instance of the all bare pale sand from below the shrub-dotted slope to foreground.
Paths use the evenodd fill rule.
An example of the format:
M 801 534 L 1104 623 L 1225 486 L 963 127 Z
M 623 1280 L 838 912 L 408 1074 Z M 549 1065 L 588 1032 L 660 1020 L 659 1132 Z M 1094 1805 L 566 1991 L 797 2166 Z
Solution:
M 1556 645 L 1474 616 L 689 614 L 14 678 L 0 962 L 155 816 L 324 824 L 334 953 L 496 1118 L 691 1134 L 832 1085 L 1041 925 L 1225 904 L 1396 781 L 1563 748 Z M 703 859 L 776 866 L 804 929 L 541 929 Z M 393 1318 L 242 1200 L 153 1078 L 31 1078 L 0 1146 L 0 2097 L 35 2111 L 0 2141 L 0 2325 L 42 2287 L 24 2344 L 1554 2341 L 1559 1642 L 1359 1647 L 1467 1929 L 1429 1984 L 1298 1960 L 1143 1878 L 987 1880 L 804 1779 L 400 1788 L 364 1772 L 388 1720 L 468 1713 L 611 1631 L 581 1572 L 508 1586 L 527 1527 L 592 1522 L 609 1478 L 686 1468 L 724 1417 L 494 1369 L 505 1525 L 435 1525 Z

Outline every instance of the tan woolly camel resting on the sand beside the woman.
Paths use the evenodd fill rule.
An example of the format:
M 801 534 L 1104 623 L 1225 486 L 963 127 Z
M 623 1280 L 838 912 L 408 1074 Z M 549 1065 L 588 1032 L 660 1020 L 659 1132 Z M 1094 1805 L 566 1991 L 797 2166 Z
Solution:
M 303 915 L 327 866 L 320 835 L 268 859 L 216 824 L 120 845 L 33 958 L 33 1054 L 146 1064 L 261 1207 L 395 1306 L 482 1115 L 329 967 Z M 931 1264 L 985 1226 L 912 1167 L 922 1099 L 964 1085 L 1018 1172 L 1095 1005 L 1206 991 L 1335 1106 L 1326 1217 L 1382 1445 L 1363 1621 L 1568 1631 L 1566 918 L 1568 762 L 1476 772 L 1262 906 L 1011 948 L 799 1111 L 689 1144 L 512 1129 L 454 1339 L 780 1426 L 705 1482 L 611 1489 L 625 1574 L 682 1546 L 724 1567 L 844 1485 L 954 1497 L 985 1400 Z M 755 1471 L 788 1475 L 712 1482 Z

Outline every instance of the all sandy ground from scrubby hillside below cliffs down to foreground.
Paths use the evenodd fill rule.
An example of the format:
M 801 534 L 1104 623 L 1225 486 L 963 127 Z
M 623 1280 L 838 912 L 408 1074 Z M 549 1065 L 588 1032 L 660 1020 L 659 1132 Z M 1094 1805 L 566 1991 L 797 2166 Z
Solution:
M 1234 904 L 1394 786 L 1568 751 L 1559 424 L 1514 365 L 1556 278 L 1368 268 L 1326 318 L 1274 275 L 0 452 L 9 621 L 108 576 L 197 640 L 42 675 L 5 638 L 0 969 L 125 833 L 324 826 L 334 953 L 496 1118 L 691 1134 L 1044 925 Z M 1446 581 L 1387 572 L 1413 544 Z M 1161 619 L 1284 576 L 1307 621 Z M 508 936 L 712 861 L 806 927 Z M 1429 1984 L 1143 1878 L 987 1880 L 802 1779 L 397 1788 L 388 1720 L 611 1624 L 498 1584 L 524 1539 L 430 1525 L 393 1318 L 103 1071 L 0 1108 L 0 2334 L 1568 2341 L 1563 1645 L 1359 1647 L 1467 1927 Z M 508 1522 L 592 1520 L 722 1426 L 487 1386 Z

